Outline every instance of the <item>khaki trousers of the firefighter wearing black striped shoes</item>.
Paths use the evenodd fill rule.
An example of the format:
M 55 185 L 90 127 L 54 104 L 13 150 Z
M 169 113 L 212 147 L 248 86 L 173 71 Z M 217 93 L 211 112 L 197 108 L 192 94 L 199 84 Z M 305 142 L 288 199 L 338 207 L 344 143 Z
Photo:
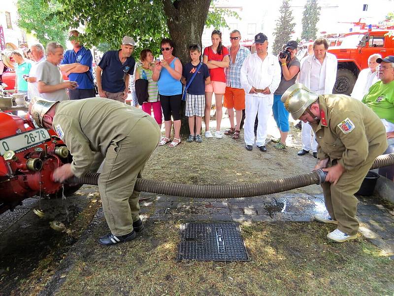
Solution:
M 136 178 L 160 141 L 160 129 L 149 115 L 132 128 L 118 143 L 111 143 L 105 154 L 99 177 L 99 192 L 105 220 L 113 235 L 130 233 L 132 222 L 139 219 L 139 191 L 134 190 Z

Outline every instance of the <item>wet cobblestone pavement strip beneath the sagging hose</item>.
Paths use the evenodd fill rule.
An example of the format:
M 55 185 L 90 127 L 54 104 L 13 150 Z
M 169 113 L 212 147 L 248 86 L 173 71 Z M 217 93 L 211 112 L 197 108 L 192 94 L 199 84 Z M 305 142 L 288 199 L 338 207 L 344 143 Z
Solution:
M 261 197 L 205 199 L 142 192 L 141 217 L 185 222 L 312 221 L 325 210 L 323 194 L 277 193 Z M 361 234 L 388 256 L 394 255 L 394 213 L 368 198 L 359 198 Z

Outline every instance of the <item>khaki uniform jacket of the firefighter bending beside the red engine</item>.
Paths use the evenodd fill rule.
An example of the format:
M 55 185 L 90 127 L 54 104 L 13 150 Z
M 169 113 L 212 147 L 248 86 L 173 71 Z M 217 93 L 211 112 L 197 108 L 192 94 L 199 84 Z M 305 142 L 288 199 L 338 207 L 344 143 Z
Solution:
M 137 121 L 147 115 L 135 107 L 99 97 L 71 100 L 56 105 L 52 126 L 73 156 L 72 173 L 81 177 L 89 171 L 94 152 L 105 156 L 111 143 L 126 138 Z

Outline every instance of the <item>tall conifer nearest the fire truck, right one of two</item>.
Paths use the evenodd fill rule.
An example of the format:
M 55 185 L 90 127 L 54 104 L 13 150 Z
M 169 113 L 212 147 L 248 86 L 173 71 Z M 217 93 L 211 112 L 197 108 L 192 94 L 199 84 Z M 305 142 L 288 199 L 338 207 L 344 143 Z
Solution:
M 302 16 L 302 34 L 301 39 L 316 39 L 317 27 L 319 21 L 321 7 L 317 0 L 307 0 L 304 6 Z

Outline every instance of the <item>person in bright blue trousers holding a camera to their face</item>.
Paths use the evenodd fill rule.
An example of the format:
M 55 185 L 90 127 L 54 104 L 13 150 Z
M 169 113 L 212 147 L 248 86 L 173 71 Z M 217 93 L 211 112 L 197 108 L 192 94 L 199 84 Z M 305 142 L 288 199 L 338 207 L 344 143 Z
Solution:
M 285 45 L 285 50 L 278 55 L 279 63 L 281 65 L 282 76 L 278 88 L 274 92 L 274 104 L 272 105 L 272 112 L 276 121 L 276 126 L 280 132 L 280 139 L 273 139 L 276 144 L 275 148 L 285 149 L 286 138 L 289 133 L 289 112 L 285 105 L 280 100 L 283 93 L 294 83 L 296 83 L 297 74 L 300 69 L 299 60 L 296 58 L 297 41 L 291 40 Z

